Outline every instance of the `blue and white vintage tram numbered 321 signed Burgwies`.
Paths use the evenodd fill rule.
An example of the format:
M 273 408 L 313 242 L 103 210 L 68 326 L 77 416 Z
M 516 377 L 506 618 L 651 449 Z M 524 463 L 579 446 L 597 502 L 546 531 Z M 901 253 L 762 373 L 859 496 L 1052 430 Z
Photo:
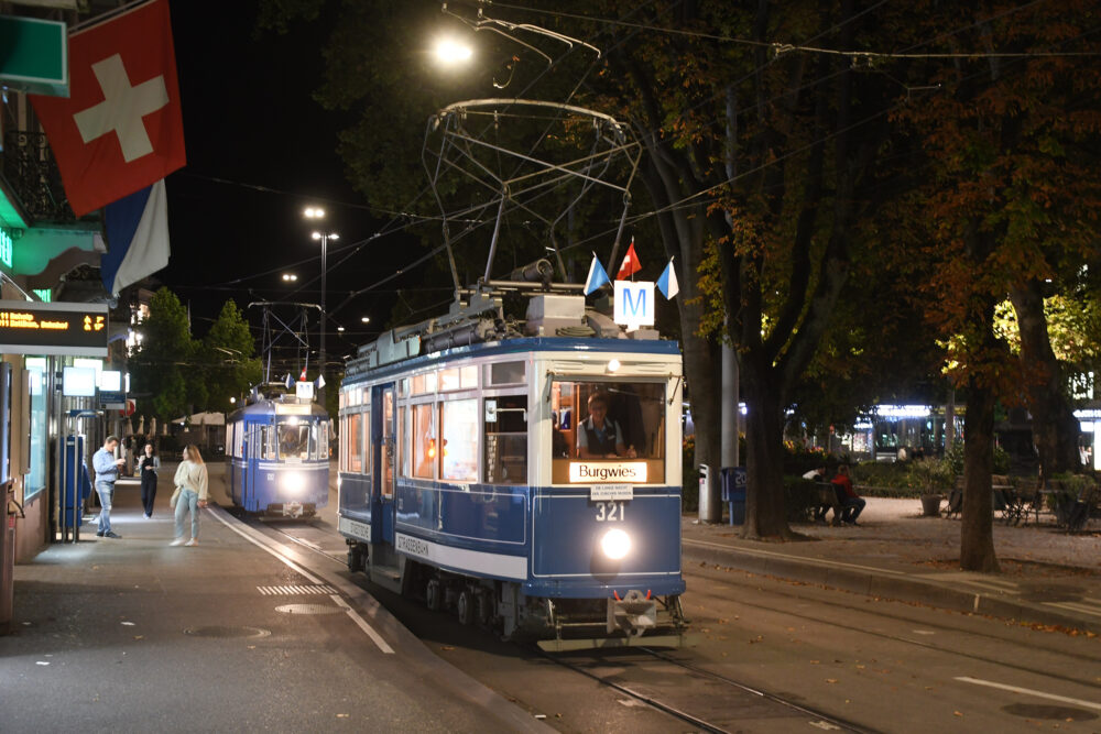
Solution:
M 391 331 L 348 363 L 349 567 L 547 649 L 679 644 L 676 342 L 454 335 Z

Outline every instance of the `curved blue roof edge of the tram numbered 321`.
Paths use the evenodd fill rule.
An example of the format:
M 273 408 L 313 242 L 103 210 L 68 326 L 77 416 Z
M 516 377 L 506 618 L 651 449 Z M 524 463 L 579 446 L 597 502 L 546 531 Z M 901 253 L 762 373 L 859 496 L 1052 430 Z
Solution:
M 679 355 L 680 346 L 676 341 L 662 339 L 600 339 L 592 337 L 522 337 L 499 341 L 483 341 L 462 347 L 451 347 L 429 354 L 411 357 L 399 362 L 383 364 L 374 369 L 366 368 L 368 357 L 348 361 L 345 382 L 352 382 L 368 374 L 379 376 L 415 370 L 422 365 L 444 364 L 472 357 L 494 354 L 524 354 L 531 352 L 601 352 L 621 354 Z

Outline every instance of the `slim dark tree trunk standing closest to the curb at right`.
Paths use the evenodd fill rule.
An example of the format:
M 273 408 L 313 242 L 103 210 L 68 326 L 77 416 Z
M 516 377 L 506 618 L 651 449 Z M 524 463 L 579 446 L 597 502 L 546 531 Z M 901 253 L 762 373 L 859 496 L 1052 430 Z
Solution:
M 993 493 L 994 392 L 971 379 L 963 418 L 963 512 L 960 522 L 960 568 L 996 573 Z

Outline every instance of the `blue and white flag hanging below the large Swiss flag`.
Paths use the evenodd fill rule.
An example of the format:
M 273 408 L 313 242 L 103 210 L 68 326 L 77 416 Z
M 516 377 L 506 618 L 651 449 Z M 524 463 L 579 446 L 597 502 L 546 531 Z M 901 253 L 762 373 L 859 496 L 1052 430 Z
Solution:
M 112 296 L 168 265 L 168 201 L 164 179 L 106 207 L 107 252 L 99 261 Z

